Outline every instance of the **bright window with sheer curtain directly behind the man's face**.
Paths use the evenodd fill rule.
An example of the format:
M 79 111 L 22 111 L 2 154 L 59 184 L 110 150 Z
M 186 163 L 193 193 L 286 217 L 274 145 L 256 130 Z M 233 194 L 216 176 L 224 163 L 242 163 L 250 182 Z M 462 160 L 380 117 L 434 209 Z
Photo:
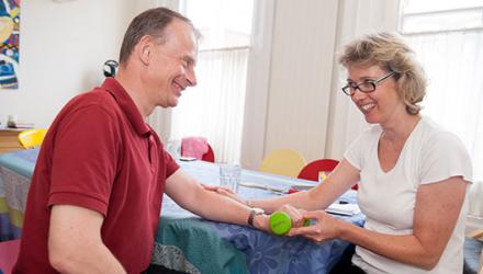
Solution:
M 216 161 L 239 162 L 254 1 L 184 0 L 180 11 L 201 31 L 198 85 L 171 114 L 171 139 L 206 137 Z

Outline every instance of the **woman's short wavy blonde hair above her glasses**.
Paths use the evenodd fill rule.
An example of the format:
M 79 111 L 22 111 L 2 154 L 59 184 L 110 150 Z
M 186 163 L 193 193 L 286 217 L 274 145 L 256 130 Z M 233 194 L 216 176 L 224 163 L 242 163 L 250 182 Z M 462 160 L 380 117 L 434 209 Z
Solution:
M 427 80 L 423 67 L 411 49 L 393 33 L 368 34 L 344 47 L 339 64 L 346 68 L 352 65 L 379 66 L 387 72 L 394 71 L 396 91 L 406 104 L 409 114 L 418 114 L 418 105 L 426 94 Z

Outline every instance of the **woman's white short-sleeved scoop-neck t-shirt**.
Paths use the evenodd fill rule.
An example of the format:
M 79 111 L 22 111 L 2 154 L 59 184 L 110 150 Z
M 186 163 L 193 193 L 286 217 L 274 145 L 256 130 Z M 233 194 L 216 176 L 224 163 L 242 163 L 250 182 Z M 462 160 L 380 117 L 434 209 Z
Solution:
M 471 182 L 470 157 L 458 137 L 423 117 L 404 144 L 396 164 L 385 173 L 378 157 L 381 134 L 379 125 L 372 126 L 345 153 L 350 164 L 360 170 L 358 203 L 367 216 L 364 228 L 387 235 L 411 235 L 419 185 L 458 175 Z M 448 246 L 431 271 L 386 259 L 361 247 L 356 248 L 352 262 L 367 273 L 460 274 L 467 212 L 468 192 Z

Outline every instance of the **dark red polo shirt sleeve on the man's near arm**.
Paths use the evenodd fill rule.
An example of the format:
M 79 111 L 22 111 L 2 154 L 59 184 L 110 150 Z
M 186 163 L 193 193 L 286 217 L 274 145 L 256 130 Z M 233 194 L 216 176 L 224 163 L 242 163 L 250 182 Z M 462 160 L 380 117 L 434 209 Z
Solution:
M 55 135 L 48 206 L 75 205 L 106 215 L 119 135 L 115 118 L 100 105 L 65 116 Z

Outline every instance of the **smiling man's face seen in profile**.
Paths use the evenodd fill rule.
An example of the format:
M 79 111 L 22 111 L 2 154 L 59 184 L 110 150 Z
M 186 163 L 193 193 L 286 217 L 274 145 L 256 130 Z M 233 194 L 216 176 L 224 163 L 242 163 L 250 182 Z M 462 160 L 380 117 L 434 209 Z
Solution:
M 183 21 L 175 19 L 165 33 L 164 43 L 153 46 L 145 84 L 151 103 L 168 107 L 178 104 L 187 87 L 196 84 L 198 44 L 192 27 Z

